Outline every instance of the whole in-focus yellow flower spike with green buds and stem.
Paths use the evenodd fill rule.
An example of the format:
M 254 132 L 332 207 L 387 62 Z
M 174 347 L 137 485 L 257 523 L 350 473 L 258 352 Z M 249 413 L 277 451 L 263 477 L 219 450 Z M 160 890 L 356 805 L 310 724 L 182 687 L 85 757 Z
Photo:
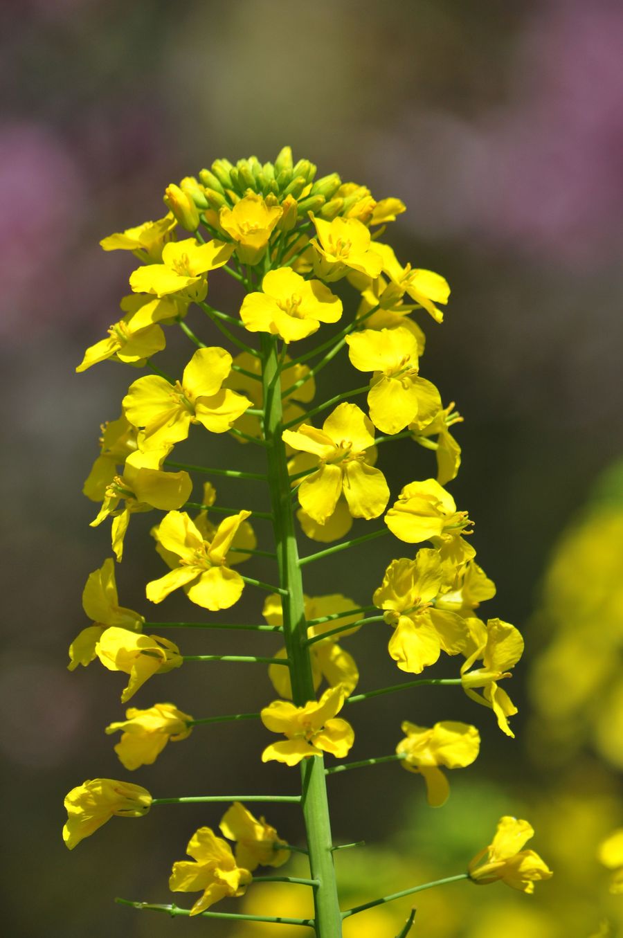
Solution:
M 493 709 L 500 728 L 512 735 L 509 717 L 516 708 L 499 682 L 509 678 L 523 640 L 508 623 L 478 617 L 479 604 L 494 597 L 494 582 L 476 563 L 468 512 L 458 509 L 444 488 L 461 464 L 461 448 L 450 428 L 462 418 L 453 403 L 444 406 L 438 389 L 420 374 L 426 340 L 417 317 L 424 310 L 434 323 L 443 321 L 448 283 L 433 271 L 403 264 L 382 240 L 387 224 L 404 211 L 399 199 L 376 200 L 365 186 L 344 183 L 338 174 L 316 179 L 315 172 L 309 160 L 295 163 L 289 147 L 274 163 L 251 157 L 233 165 L 218 159 L 197 177 L 167 187 L 163 218 L 104 238 L 104 250 L 129 251 L 139 265 L 129 275 L 123 315 L 106 338 L 86 350 L 77 369 L 113 360 L 146 370 L 129 384 L 121 416 L 102 427 L 100 454 L 84 483 L 87 497 L 101 503 L 93 526 L 112 519 L 117 562 L 123 559 L 130 516 L 161 512 L 151 534 L 167 570 L 146 583 L 146 601 L 160 604 L 179 590 L 181 601 L 185 597 L 207 613 L 220 613 L 236 607 L 247 587 L 268 593 L 265 624 L 208 619 L 160 628 L 216 626 L 232 636 L 245 629 L 277 632 L 281 647 L 270 656 L 182 655 L 175 643 L 149 633 L 142 613 L 119 606 L 115 563 L 109 558 L 87 580 L 84 611 L 92 625 L 71 643 L 69 667 L 99 658 L 108 670 L 129 675 L 121 695 L 125 703 L 152 676 L 186 660 L 268 664 L 279 699 L 263 700 L 258 714 L 194 719 L 174 703 L 154 703 L 129 708 L 106 733 L 121 733 L 114 750 L 129 771 L 152 764 L 170 740 L 188 739 L 195 727 L 221 719 L 259 718 L 267 731 L 285 737 L 258 751 L 258 767 L 270 761 L 300 764 L 301 797 L 272 800 L 304 802 L 308 845 L 301 849 L 309 855 L 311 879 L 290 881 L 314 887 L 314 930 L 320 938 L 337 938 L 344 914 L 332 885 L 326 842 L 326 776 L 379 761 L 324 767 L 326 756 L 343 760 L 355 744 L 353 726 L 338 715 L 376 693 L 430 683 L 422 678 L 355 695 L 359 671 L 340 642 L 356 633 L 357 641 L 363 634 L 373 640 L 374 628 L 368 627 L 380 629 L 385 623 L 392 629 L 389 656 L 402 672 L 420 674 L 442 654 L 462 658 L 454 676 L 441 683 L 463 687 L 471 700 Z M 236 281 L 240 300 L 234 314 L 207 301 L 213 277 Z M 348 287 L 357 296 L 350 315 L 343 298 Z M 199 338 L 193 331 L 196 321 L 220 330 L 229 350 Z M 193 354 L 181 371 L 174 364 L 169 377 L 160 359 L 158 367 L 153 359 L 166 348 L 166 330 L 174 328 L 193 344 Z M 298 352 L 298 343 L 321 329 L 327 330 L 327 339 Z M 366 384 L 315 404 L 318 372 L 341 351 L 357 376 L 366 376 L 357 379 Z M 163 367 L 170 371 L 169 365 Z M 266 471 L 178 461 L 188 438 L 196 448 L 203 444 L 205 452 L 213 450 L 212 434 L 259 448 Z M 403 478 L 402 490 L 392 498 L 376 463 L 388 443 L 403 437 L 433 450 L 436 472 L 427 477 L 431 470 L 424 462 L 419 477 Z M 403 461 L 409 467 L 414 463 L 413 458 Z M 246 489 L 243 507 L 217 506 L 209 482 L 203 484 L 201 501 L 191 501 L 197 473 L 243 485 L 264 482 L 271 510 L 251 508 L 258 496 L 249 497 Z M 216 521 L 215 513 L 220 513 Z M 296 519 L 308 541 L 332 546 L 299 556 Z M 380 521 L 372 532 L 342 540 L 354 520 L 375 519 Z M 256 521 L 272 524 L 273 537 L 266 543 Z M 407 554 L 392 560 L 384 574 L 379 571 L 376 588 L 363 590 L 357 599 L 343 596 L 337 586 L 323 596 L 304 594 L 306 564 L 373 537 L 393 537 Z M 411 545 L 427 546 L 414 552 Z M 235 568 L 255 555 L 275 563 L 273 583 Z M 318 696 L 323 681 L 327 688 Z M 441 806 L 448 797 L 441 768 L 474 762 L 478 730 L 456 720 L 432 728 L 405 720 L 403 733 L 396 751 L 380 761 L 396 760 L 423 776 L 429 803 Z M 207 803 L 226 797 L 159 799 L 126 782 L 87 781 L 68 794 L 66 841 L 75 846 L 114 814 L 139 816 L 151 806 L 185 800 Z M 503 819 L 484 864 L 479 862 L 486 851 L 463 878 L 504 879 L 527 889 L 524 884 L 531 887 L 549 875 L 537 855 L 521 852 L 531 828 L 515 824 L 524 825 L 519 833 L 511 819 Z M 289 857 L 275 829 L 238 801 L 222 818 L 220 831 L 236 841 L 236 852 L 202 826 L 188 845 L 190 861 L 174 865 L 172 890 L 202 892 L 190 915 L 209 915 L 206 910 L 217 900 L 244 893 L 259 864 L 281 866 Z

